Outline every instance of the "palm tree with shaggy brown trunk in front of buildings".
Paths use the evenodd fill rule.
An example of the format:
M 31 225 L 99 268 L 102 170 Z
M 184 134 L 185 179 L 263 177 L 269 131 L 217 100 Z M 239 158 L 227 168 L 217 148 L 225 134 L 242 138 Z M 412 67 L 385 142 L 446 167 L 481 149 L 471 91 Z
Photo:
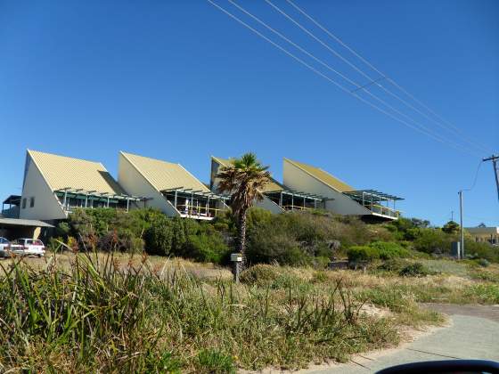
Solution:
M 270 181 L 268 167 L 262 166 L 254 153 L 246 153 L 241 159 L 231 159 L 228 166 L 221 167 L 217 178 L 218 191 L 232 194 L 231 207 L 237 220 L 238 250 L 242 255 L 243 265 L 246 257 L 246 213 L 255 200 L 262 200 L 260 192 Z

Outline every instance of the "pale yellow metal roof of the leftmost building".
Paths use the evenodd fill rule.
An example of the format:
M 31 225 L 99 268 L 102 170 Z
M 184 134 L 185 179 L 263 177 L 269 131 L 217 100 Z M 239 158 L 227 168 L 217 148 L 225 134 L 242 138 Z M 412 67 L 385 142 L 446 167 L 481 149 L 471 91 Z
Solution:
M 125 193 L 100 162 L 37 150 L 28 150 L 28 154 L 53 191 L 69 187 L 112 195 Z

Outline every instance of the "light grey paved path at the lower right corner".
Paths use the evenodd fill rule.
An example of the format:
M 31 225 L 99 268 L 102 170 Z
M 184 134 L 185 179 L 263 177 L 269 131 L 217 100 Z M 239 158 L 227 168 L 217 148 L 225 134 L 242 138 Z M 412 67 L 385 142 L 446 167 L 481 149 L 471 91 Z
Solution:
M 356 363 L 306 370 L 307 374 L 369 373 L 407 362 L 449 359 L 499 361 L 499 305 L 424 305 L 450 314 L 452 325 L 386 354 L 364 354 Z

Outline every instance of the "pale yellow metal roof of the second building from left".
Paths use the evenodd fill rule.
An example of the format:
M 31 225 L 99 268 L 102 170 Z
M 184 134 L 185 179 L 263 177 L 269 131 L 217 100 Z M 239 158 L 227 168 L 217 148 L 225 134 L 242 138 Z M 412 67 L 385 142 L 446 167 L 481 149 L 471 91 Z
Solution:
M 192 191 L 209 192 L 209 188 L 204 183 L 201 183 L 180 164 L 126 152 L 121 152 L 121 154 L 158 191 L 183 187 L 192 189 Z

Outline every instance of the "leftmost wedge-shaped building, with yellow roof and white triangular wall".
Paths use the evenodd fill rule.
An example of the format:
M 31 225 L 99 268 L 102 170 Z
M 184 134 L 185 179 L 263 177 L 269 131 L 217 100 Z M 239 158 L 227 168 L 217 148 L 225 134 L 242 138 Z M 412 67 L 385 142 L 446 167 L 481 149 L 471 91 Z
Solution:
M 18 201 L 21 219 L 52 222 L 66 219 L 75 207 L 127 210 L 142 202 L 127 195 L 100 162 L 27 151 Z

